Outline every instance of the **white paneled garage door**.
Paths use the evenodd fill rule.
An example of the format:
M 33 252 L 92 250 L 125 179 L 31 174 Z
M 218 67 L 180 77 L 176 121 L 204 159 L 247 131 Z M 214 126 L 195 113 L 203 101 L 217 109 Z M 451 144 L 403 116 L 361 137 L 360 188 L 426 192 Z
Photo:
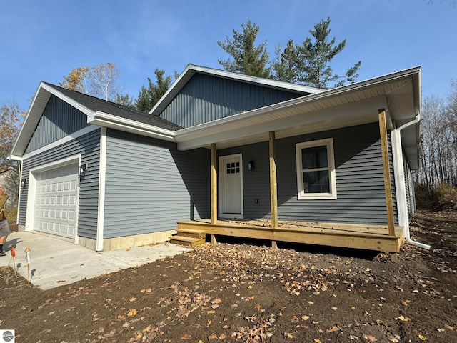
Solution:
M 77 197 L 77 164 L 37 174 L 34 229 L 74 238 Z

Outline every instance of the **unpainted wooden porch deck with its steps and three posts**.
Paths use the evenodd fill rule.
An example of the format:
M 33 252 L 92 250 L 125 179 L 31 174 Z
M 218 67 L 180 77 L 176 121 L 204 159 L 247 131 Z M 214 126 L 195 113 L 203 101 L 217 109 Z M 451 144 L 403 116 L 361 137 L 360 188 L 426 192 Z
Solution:
M 386 195 L 386 225 L 278 220 L 276 132 L 270 131 L 268 136 L 268 154 L 271 219 L 227 219 L 219 216 L 218 159 L 216 144 L 213 143 L 211 144 L 211 218 L 178 222 L 178 237 L 184 237 L 183 241 L 187 241 L 189 245 L 204 242 L 204 237 L 209 234 L 213 244 L 216 243 L 216 237 L 220 235 L 269 240 L 272 247 L 277 247 L 277 242 L 293 242 L 325 245 L 328 247 L 366 249 L 378 252 L 390 252 L 393 254 L 392 259 L 395 260 L 396 253 L 400 251 L 404 237 L 403 227 L 395 226 L 394 224 L 386 121 L 386 111 L 379 109 L 378 124 L 383 157 L 382 169 L 384 180 L 383 190 Z M 172 237 L 172 242 L 176 242 L 179 239 L 178 237 Z M 192 237 L 196 239 L 194 242 L 191 242 Z

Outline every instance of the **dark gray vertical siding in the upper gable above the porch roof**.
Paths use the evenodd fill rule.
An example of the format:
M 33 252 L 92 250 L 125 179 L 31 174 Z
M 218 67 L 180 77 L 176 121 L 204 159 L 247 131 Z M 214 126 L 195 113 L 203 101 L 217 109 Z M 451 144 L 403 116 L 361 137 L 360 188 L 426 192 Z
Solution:
M 190 127 L 303 95 L 195 74 L 160 116 L 179 126 Z

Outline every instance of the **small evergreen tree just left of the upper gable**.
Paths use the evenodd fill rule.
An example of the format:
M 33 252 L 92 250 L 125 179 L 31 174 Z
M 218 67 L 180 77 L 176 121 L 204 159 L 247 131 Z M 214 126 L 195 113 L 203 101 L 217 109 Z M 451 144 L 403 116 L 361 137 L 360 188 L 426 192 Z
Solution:
M 138 98 L 135 100 L 135 108 L 139 111 L 151 111 L 171 85 L 171 76 L 164 77 L 164 70 L 156 69 L 154 74 L 156 74 L 156 84 L 148 78 L 148 87 L 141 86 Z

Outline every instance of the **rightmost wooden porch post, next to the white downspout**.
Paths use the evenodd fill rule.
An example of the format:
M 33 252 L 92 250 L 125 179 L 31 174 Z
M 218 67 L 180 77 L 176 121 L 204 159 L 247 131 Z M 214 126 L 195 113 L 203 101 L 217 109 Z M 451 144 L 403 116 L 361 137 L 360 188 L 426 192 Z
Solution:
M 389 164 L 388 164 L 386 110 L 378 109 L 378 115 L 379 115 L 379 132 L 381 134 L 381 152 L 383 155 L 384 189 L 386 191 L 388 234 L 389 234 L 389 236 L 395 236 L 395 224 L 393 222 L 391 172 L 390 172 Z

